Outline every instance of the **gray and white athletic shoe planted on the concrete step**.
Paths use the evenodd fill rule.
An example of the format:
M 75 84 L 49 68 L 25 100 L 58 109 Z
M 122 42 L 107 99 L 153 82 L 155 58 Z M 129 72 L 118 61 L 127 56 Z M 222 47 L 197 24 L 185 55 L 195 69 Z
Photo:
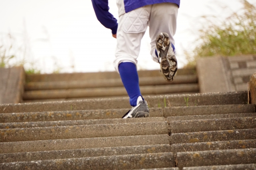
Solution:
M 125 113 L 122 118 L 126 119 L 134 117 L 149 117 L 148 103 L 146 100 L 140 101 L 137 106 L 132 107 L 132 109 Z

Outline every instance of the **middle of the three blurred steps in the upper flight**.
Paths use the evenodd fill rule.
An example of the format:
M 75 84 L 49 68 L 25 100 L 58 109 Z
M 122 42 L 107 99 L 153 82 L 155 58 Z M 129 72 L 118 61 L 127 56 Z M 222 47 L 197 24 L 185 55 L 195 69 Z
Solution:
M 197 83 L 196 75 L 177 76 L 174 81 L 167 82 L 162 76 L 142 77 L 139 79 L 140 86 L 163 85 L 163 84 L 187 84 Z M 96 80 L 74 80 L 74 81 L 53 81 L 53 82 L 28 82 L 25 90 L 53 90 L 72 88 L 100 88 L 100 87 L 120 87 L 123 86 L 121 78 L 116 79 L 96 79 Z

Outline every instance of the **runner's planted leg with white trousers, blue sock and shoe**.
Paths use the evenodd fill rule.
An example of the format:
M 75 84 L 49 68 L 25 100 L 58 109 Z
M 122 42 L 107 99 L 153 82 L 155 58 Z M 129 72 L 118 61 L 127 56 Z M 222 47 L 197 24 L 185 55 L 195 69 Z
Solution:
M 140 93 L 136 59 L 140 52 L 140 41 L 148 27 L 150 10 L 151 6 L 145 6 L 119 17 L 114 67 L 120 74 L 132 106 L 123 118 L 149 116 L 148 105 Z

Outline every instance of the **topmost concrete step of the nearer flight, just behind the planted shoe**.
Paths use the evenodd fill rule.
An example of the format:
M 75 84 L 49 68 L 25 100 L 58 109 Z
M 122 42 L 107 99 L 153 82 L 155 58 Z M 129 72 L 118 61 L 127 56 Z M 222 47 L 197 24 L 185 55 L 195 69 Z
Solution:
M 206 106 L 246 104 L 248 92 L 226 92 L 210 94 L 182 94 L 165 96 L 145 96 L 150 108 L 164 106 Z M 188 102 L 187 101 L 188 99 Z M 122 109 L 130 108 L 129 98 L 104 98 L 76 101 L 38 102 L 22 104 L 2 104 L 0 113 L 24 113 L 38 111 L 70 111 L 91 109 Z M 255 112 L 255 111 L 254 111 Z

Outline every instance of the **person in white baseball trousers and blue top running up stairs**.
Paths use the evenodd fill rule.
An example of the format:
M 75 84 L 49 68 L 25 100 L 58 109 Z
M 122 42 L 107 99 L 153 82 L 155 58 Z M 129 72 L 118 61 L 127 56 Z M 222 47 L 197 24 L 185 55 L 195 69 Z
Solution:
M 149 117 L 136 67 L 141 39 L 149 26 L 152 59 L 160 63 L 165 80 L 172 81 L 178 70 L 173 36 L 180 0 L 117 0 L 119 23 L 108 11 L 108 0 L 92 0 L 92 5 L 97 19 L 117 39 L 114 67 L 132 106 L 122 118 Z

